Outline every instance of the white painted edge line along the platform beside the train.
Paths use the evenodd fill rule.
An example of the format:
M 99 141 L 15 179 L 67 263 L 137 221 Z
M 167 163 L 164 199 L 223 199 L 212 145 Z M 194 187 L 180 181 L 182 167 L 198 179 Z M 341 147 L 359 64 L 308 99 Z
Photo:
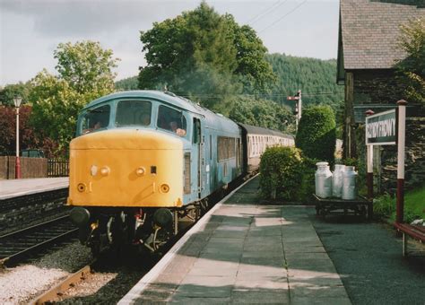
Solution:
M 119 305 L 134 304 L 135 299 L 137 299 L 138 297 L 142 295 L 142 292 L 144 291 L 146 286 L 149 283 L 152 283 L 152 280 L 157 278 L 160 275 L 160 273 L 167 266 L 169 266 L 169 263 L 171 263 L 172 260 L 176 257 L 178 250 L 185 245 L 186 241 L 189 240 L 190 237 L 195 232 L 197 232 L 202 225 L 204 225 L 204 223 L 210 220 L 212 213 L 214 213 L 218 208 L 220 208 L 222 204 L 224 204 L 227 200 L 229 200 L 231 196 L 233 196 L 237 191 L 239 191 L 239 188 L 244 187 L 249 181 L 256 178 L 256 176 L 250 179 L 247 179 L 247 181 L 245 181 L 241 186 L 234 189 L 228 196 L 225 196 L 224 198 L 221 199 L 221 201 L 219 201 L 216 205 L 214 205 L 212 209 L 204 215 L 203 218 L 201 218 L 198 222 L 196 222 L 195 225 L 189 231 L 187 231 L 186 234 L 183 235 L 182 238 L 178 240 L 178 242 L 172 248 L 169 249 L 169 252 L 167 252 L 167 254 L 164 257 L 162 257 L 155 266 L 153 266 L 151 271 L 149 271 L 147 274 L 144 274 L 142 279 L 138 283 L 136 283 L 134 287 L 129 292 L 127 292 L 127 294 L 120 301 L 118 301 L 117 304 Z

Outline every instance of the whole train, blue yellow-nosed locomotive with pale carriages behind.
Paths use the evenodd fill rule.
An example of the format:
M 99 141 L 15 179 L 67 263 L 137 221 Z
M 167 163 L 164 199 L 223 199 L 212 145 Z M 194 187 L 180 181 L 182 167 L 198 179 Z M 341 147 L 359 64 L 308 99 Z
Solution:
M 267 146 L 293 144 L 170 92 L 113 93 L 78 118 L 71 218 L 93 252 L 123 242 L 155 251 L 178 232 L 178 219 L 197 219 L 210 196 L 256 171 Z

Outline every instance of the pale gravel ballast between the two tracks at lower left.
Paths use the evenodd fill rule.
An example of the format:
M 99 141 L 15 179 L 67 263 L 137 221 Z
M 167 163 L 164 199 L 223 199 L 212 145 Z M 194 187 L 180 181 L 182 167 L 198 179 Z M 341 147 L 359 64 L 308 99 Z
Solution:
M 91 261 L 90 249 L 78 241 L 0 274 L 0 304 L 26 304 Z

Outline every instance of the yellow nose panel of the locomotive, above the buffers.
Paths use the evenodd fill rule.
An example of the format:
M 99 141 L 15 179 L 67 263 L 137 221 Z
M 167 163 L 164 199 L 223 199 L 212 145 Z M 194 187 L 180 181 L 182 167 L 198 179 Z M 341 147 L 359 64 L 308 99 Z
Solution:
M 152 130 L 114 129 L 70 145 L 69 205 L 180 206 L 183 143 Z

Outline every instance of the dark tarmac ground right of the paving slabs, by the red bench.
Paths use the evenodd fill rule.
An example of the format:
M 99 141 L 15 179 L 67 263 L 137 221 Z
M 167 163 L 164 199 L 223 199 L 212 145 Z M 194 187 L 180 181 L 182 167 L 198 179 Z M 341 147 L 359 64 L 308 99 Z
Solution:
M 384 223 L 358 218 L 311 220 L 355 304 L 425 304 L 425 245 L 413 241 L 415 256 L 403 257 L 402 239 Z

